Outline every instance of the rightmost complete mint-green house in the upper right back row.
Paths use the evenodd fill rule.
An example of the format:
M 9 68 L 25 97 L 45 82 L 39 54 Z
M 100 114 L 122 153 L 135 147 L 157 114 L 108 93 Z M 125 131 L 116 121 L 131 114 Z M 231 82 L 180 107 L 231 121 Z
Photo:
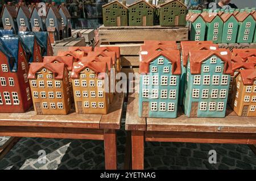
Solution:
M 240 10 L 236 15 L 239 30 L 237 35 L 237 43 L 252 43 L 255 32 L 256 16 L 245 10 Z

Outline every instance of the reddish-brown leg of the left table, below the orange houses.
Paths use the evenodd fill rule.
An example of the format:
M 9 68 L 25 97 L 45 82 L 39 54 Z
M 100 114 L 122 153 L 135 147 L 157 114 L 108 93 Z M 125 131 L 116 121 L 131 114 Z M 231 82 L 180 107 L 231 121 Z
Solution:
M 114 129 L 104 129 L 105 169 L 117 170 L 117 134 Z

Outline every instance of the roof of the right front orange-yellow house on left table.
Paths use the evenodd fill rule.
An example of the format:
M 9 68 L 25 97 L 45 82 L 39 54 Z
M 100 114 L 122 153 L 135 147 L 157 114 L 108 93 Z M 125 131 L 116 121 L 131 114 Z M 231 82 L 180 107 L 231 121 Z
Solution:
M 89 68 L 95 71 L 97 78 L 104 78 L 105 74 L 101 74 L 100 77 L 98 77 L 98 74 L 106 73 L 107 64 L 105 62 L 86 62 L 86 61 L 74 62 L 71 78 L 73 79 L 79 78 L 79 73 L 85 68 Z

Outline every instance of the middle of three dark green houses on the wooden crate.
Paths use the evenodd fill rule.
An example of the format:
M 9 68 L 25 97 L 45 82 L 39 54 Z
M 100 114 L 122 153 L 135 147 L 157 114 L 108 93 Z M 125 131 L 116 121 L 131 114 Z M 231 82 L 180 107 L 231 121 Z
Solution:
M 128 6 L 129 26 L 154 26 L 155 6 L 149 2 L 140 0 Z

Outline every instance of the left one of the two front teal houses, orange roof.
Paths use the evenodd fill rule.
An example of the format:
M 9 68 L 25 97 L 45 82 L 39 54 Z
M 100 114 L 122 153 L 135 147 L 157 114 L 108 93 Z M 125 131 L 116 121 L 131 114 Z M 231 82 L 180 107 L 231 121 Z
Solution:
M 139 117 L 177 117 L 179 50 L 141 52 Z

